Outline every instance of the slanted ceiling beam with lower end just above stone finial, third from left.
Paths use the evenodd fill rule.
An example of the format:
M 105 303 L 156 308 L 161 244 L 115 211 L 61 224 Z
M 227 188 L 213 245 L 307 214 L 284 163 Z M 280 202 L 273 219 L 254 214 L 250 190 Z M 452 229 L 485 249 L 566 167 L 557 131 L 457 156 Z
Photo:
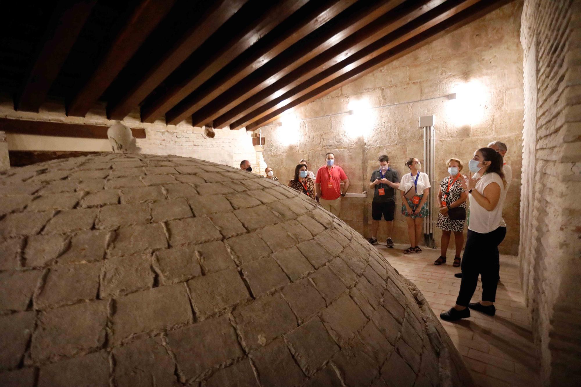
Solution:
M 192 26 L 184 36 L 160 58 L 145 74 L 127 90 L 121 92 L 119 99 L 107 105 L 107 117 L 121 120 L 141 103 L 164 79 L 166 79 L 184 60 L 196 51 L 216 30 L 248 0 L 220 0 L 210 2 L 209 9 L 200 17 L 200 22 Z M 194 21 L 196 22 L 196 21 Z M 161 42 L 167 44 L 167 42 Z

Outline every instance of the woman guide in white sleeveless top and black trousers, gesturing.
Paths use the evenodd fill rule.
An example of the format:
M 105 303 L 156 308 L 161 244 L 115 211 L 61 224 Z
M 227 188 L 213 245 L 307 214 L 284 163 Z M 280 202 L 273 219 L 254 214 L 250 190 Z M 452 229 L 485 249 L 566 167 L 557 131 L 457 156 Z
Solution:
M 494 316 L 500 268 L 498 245 L 507 232 L 503 223 L 506 181 L 502 156 L 492 148 L 480 148 L 468 166 L 472 173 L 483 173 L 478 179 L 469 178 L 462 183 L 462 188 L 472 196 L 470 221 L 462 255 L 462 282 L 456 305 L 440 314 L 440 318 L 447 321 L 470 317 L 470 309 Z M 482 279 L 482 301 L 470 303 L 478 284 L 478 275 Z

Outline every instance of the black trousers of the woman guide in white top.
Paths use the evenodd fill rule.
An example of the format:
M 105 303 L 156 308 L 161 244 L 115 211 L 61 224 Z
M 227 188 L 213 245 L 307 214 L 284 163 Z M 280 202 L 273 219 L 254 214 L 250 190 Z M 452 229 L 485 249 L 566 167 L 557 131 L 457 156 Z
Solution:
M 478 275 L 482 279 L 482 300 L 494 302 L 500 270 L 498 245 L 507 234 L 506 227 L 498 227 L 487 234 L 468 230 L 468 238 L 462 255 L 462 282 L 456 303 L 468 306 L 478 285 Z

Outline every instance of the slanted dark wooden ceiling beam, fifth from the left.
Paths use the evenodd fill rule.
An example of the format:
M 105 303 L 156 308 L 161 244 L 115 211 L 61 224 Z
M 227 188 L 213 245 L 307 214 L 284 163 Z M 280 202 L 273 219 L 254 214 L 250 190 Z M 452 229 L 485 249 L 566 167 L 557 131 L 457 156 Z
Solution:
M 229 88 L 238 84 L 253 71 L 263 71 L 265 63 L 275 60 L 275 57 L 285 49 L 328 23 L 329 20 L 339 15 L 354 2 L 355 0 L 318 0 L 310 1 L 302 6 L 268 35 L 236 58 L 235 62 L 224 67 L 216 76 L 210 78 L 209 81 L 167 112 L 167 123 L 179 123 L 223 92 L 229 92 Z M 299 64 L 286 63 L 289 67 Z M 211 121 L 211 119 L 205 117 L 199 121 L 196 120 L 193 125 L 200 126 L 206 121 Z

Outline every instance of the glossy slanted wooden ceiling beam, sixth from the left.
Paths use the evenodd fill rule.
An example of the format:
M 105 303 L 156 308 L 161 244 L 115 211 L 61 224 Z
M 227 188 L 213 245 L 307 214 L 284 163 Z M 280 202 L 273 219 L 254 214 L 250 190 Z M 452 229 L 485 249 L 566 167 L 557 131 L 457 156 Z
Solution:
M 178 113 L 181 114 L 174 121 L 180 118 L 183 119 L 183 117 L 192 113 L 192 124 L 194 126 L 213 120 L 403 2 L 404 0 L 357 2 L 308 37 L 296 42 L 296 44 L 276 58 L 264 64 L 259 70 L 244 78 L 206 106 L 199 101 L 199 98 L 196 100 L 195 96 L 193 99 L 188 96 L 187 99 L 180 103 L 179 107 L 182 110 Z M 206 98 L 206 101 L 208 100 Z M 178 109 L 178 106 L 176 106 L 176 109 Z M 173 111 L 168 112 L 168 116 L 170 113 L 173 113 Z

